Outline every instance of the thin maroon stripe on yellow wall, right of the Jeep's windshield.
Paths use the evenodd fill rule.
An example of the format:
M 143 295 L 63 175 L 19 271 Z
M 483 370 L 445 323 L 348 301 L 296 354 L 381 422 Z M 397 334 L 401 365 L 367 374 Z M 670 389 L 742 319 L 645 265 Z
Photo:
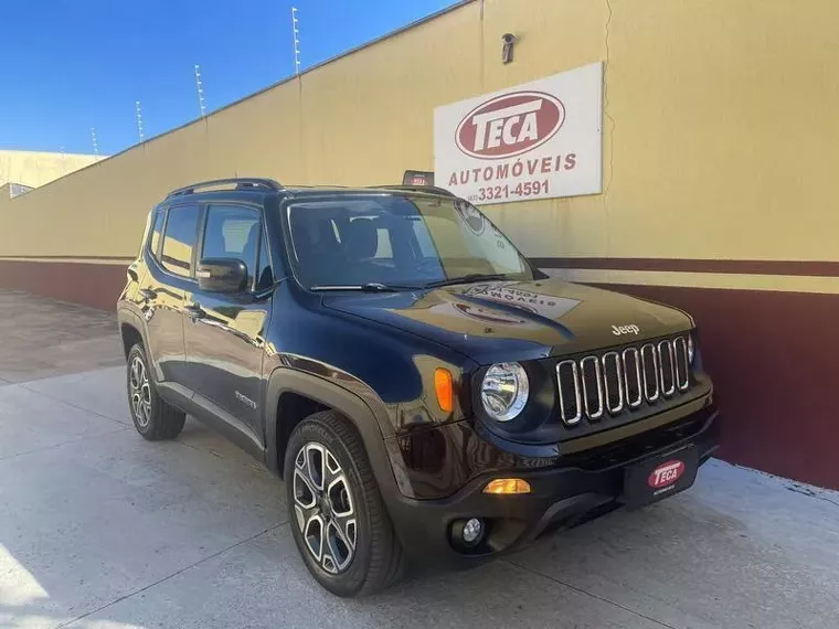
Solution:
M 733 273 L 741 275 L 795 275 L 839 277 L 839 262 L 830 260 L 725 260 L 681 258 L 530 258 L 541 268 L 593 268 L 608 270 L 657 270 Z

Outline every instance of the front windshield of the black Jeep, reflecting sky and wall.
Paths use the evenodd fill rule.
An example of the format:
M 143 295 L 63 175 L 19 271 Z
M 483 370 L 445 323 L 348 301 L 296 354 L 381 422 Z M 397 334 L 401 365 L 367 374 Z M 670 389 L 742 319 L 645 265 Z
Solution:
M 513 244 L 459 199 L 382 194 L 300 201 L 287 206 L 286 220 L 295 275 L 308 288 L 395 289 L 533 277 Z

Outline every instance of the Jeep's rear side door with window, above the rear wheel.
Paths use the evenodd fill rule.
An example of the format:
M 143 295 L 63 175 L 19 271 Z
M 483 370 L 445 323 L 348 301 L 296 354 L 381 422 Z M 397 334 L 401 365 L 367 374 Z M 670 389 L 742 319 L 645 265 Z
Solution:
M 194 284 L 194 248 L 200 207 L 160 207 L 144 253 L 147 273 L 140 279 L 149 360 L 159 382 L 183 384 L 183 326 L 187 291 Z

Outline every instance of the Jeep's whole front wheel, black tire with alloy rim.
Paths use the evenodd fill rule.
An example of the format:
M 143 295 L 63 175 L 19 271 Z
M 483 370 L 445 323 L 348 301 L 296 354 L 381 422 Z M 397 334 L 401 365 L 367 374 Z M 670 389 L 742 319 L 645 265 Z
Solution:
M 317 582 L 342 597 L 393 585 L 402 575 L 402 545 L 355 428 L 334 411 L 310 415 L 291 433 L 284 468 L 289 525 Z

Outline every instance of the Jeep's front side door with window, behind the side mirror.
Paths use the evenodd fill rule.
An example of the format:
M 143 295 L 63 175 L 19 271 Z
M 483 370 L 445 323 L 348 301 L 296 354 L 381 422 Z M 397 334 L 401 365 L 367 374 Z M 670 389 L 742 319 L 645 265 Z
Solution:
M 241 295 L 189 294 L 191 316 L 184 326 L 187 370 L 194 401 L 227 423 L 235 433 L 262 446 L 262 366 L 264 333 L 273 286 L 262 209 L 211 203 L 205 209 L 200 259 L 234 258 L 247 266 L 247 290 Z

